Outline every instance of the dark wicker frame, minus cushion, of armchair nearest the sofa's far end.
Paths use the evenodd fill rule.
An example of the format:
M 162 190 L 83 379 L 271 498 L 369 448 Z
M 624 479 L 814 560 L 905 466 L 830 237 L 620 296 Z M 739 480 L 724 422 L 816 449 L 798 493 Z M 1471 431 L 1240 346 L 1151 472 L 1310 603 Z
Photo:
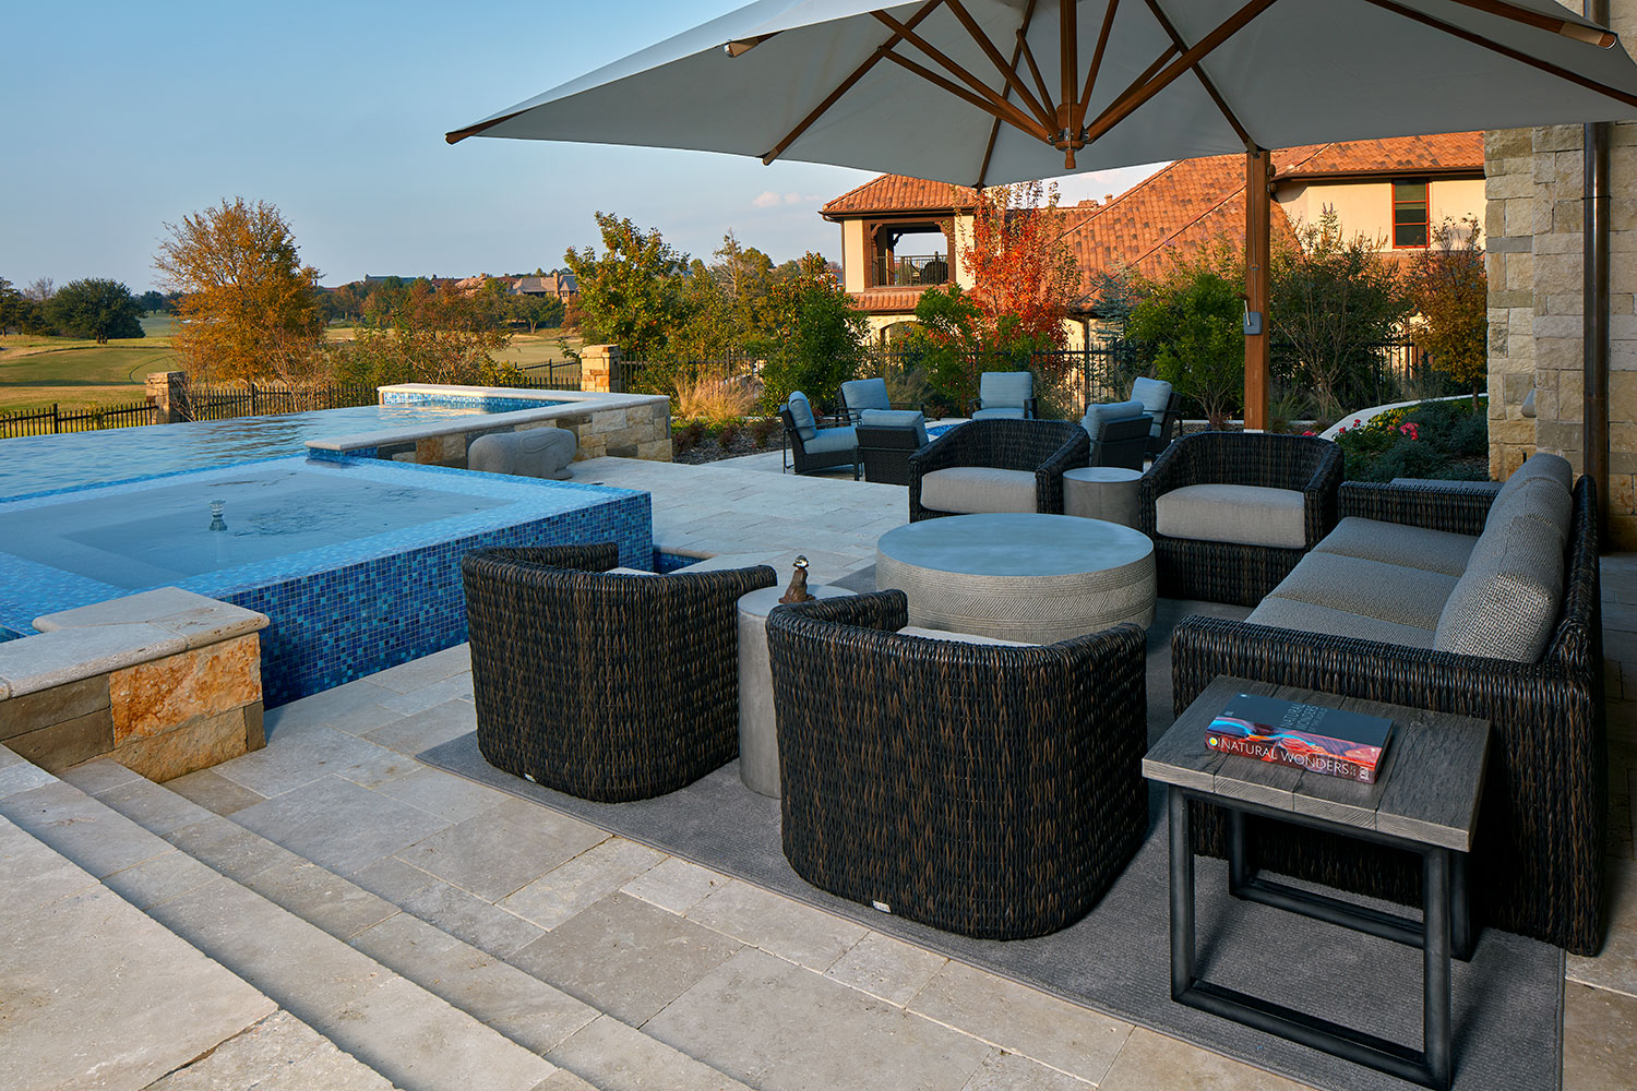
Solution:
M 1139 486 L 1141 530 L 1154 540 L 1159 594 L 1256 605 L 1336 527 L 1342 455 L 1310 435 L 1200 432 L 1170 443 Z M 1301 548 L 1172 538 L 1157 532 L 1156 501 L 1192 484 L 1239 484 L 1303 492 Z M 1323 687 L 1321 687 L 1323 689 Z

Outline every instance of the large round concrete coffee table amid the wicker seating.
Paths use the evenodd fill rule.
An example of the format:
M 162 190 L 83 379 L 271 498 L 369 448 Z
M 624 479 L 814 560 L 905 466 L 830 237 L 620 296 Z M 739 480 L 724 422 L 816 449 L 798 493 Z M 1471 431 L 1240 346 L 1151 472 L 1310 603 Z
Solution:
M 1154 543 L 1067 515 L 951 515 L 881 535 L 876 587 L 910 625 L 1036 644 L 1154 622 Z

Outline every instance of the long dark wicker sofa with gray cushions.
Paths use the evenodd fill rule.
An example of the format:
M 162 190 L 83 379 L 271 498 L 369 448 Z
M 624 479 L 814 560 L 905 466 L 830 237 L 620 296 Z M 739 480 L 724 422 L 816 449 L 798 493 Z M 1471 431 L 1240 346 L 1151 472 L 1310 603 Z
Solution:
M 1567 479 L 1567 463 L 1560 469 Z M 1558 486 L 1531 487 L 1537 499 L 1550 499 Z M 1495 734 L 1473 857 L 1475 916 L 1591 955 L 1603 942 L 1608 823 L 1596 497 L 1591 481 L 1581 479 L 1563 504 L 1567 533 L 1554 530 L 1547 538 L 1526 523 L 1526 532 L 1498 540 L 1519 517 L 1514 501 L 1511 481 L 1499 496 L 1436 483 L 1342 486 L 1344 519 L 1334 535 L 1341 541 L 1326 538 L 1315 563 L 1303 561 L 1306 568 L 1282 581 L 1249 620 L 1192 617 L 1177 626 L 1175 710 L 1187 708 L 1211 679 L 1234 676 L 1490 720 Z M 1547 522 L 1557 519 L 1547 512 Z M 1352 566 L 1373 579 L 1378 599 L 1342 589 L 1367 610 L 1352 620 L 1337 608 L 1342 602 L 1311 602 L 1315 574 L 1347 568 L 1324 559 L 1331 546 L 1403 561 L 1382 569 Z M 1537 564 L 1542 554 L 1560 558 L 1557 600 L 1540 599 L 1542 589 L 1527 577 L 1501 579 L 1488 599 L 1472 594 L 1472 576 L 1481 574 L 1475 566 L 1495 564 L 1496 556 L 1501 568 Z M 1431 568 L 1413 571 L 1411 563 Z M 1449 576 L 1455 564 L 1460 576 Z M 1439 568 L 1447 569 L 1444 579 L 1436 577 Z M 1388 569 L 1390 576 L 1370 576 Z M 1465 592 L 1457 590 L 1462 581 Z M 1414 625 L 1414 612 L 1427 610 L 1426 600 L 1441 589 L 1449 597 L 1439 625 Z M 1540 602 L 1549 604 L 1545 612 Z M 1514 613 L 1527 615 L 1527 623 Z M 1542 648 L 1531 656 L 1536 643 Z M 1511 658 L 1498 658 L 1501 651 Z M 1195 818 L 1200 847 L 1224 854 L 1220 816 L 1200 810 Z M 1270 870 L 1419 901 L 1419 865 L 1406 855 L 1290 828 L 1252 828 L 1252 837 L 1259 864 Z

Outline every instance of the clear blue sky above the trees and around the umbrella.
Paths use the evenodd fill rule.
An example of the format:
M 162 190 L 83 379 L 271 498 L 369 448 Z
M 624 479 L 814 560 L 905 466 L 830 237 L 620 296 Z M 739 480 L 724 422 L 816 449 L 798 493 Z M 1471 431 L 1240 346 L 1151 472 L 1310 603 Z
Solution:
M 33 3 L 0 65 L 0 276 L 154 278 L 164 222 L 242 195 L 277 204 L 304 262 L 470 275 L 561 265 L 596 209 L 706 257 L 840 258 L 818 206 L 871 175 L 663 149 L 444 132 L 740 7 L 535 0 Z M 1066 180 L 1121 191 L 1143 168 Z

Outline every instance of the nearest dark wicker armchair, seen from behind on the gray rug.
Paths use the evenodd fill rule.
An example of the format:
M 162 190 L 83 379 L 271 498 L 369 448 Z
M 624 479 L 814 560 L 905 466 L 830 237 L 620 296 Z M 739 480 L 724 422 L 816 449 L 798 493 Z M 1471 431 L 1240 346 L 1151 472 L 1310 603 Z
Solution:
M 900 635 L 904 592 L 768 618 L 784 855 L 830 893 L 984 939 L 1082 918 L 1148 826 L 1143 631 Z

